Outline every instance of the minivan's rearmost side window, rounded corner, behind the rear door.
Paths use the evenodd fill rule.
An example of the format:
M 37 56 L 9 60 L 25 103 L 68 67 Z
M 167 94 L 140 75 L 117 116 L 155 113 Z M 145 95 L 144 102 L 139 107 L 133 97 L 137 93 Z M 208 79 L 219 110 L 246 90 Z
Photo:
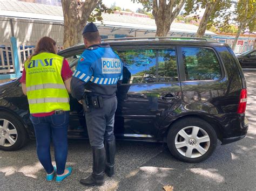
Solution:
M 181 51 L 187 81 L 220 79 L 219 61 L 212 49 L 181 47 Z

